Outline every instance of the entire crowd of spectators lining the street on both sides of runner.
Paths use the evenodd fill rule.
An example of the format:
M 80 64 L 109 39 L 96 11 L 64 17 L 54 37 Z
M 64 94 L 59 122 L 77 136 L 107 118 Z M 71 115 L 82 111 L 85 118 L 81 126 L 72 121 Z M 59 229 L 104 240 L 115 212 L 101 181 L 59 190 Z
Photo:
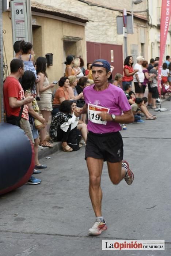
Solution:
M 52 142 L 61 141 L 65 152 L 77 151 L 87 140 L 87 114 L 77 118 L 74 114 L 76 107 L 85 104 L 83 90 L 93 84 L 91 63 L 84 68 L 84 61 L 79 57 L 66 57 L 65 75 L 58 81 L 58 89 L 53 90 L 54 82 L 50 83 L 46 72 L 47 60 L 38 57 L 34 61 L 33 45 L 30 42 L 17 41 L 14 44 L 15 57 L 11 61 L 11 74 L 4 83 L 4 103 L 7 121 L 22 128 L 34 144 L 35 169 L 33 173 L 41 173 L 40 169 L 47 166 L 38 161 L 38 149 L 53 147 Z M 156 120 L 156 116 L 147 107 L 156 109 L 158 62 L 151 59 L 150 63 L 142 56 L 137 57 L 133 65 L 133 57 L 128 56 L 124 61 L 123 75 L 115 74 L 110 80 L 115 86 L 125 91 L 126 98 L 132 107 L 135 123 L 146 120 Z M 111 71 L 114 67 L 111 66 Z M 161 71 L 162 86 L 171 91 L 171 59 L 166 57 Z M 110 77 L 111 79 L 111 77 Z M 135 92 L 133 91 L 133 82 Z M 10 86 L 12 85 L 12 86 Z M 22 85 L 22 87 L 21 87 Z M 148 86 L 148 98 L 144 97 Z M 23 107 L 22 107 L 23 106 Z M 12 119 L 12 118 L 13 119 Z M 52 118 L 50 118 L 52 117 Z M 49 136 L 47 123 L 51 119 Z M 15 123 L 15 124 L 16 124 Z M 125 124 L 121 128 L 125 128 Z M 126 128 L 125 128 L 126 129 Z M 31 176 L 28 184 L 39 184 L 41 180 Z

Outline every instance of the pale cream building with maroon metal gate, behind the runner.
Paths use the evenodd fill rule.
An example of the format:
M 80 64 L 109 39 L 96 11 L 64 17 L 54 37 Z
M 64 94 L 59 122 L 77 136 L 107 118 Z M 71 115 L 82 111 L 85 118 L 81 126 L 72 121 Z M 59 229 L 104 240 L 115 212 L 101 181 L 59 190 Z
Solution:
M 117 34 L 117 16 L 122 16 L 123 8 L 126 8 L 130 15 L 134 12 L 134 34 L 128 34 L 127 52 L 132 54 L 134 59 L 138 55 L 148 58 L 148 18 L 147 18 L 147 0 L 135 5 L 133 1 L 102 1 L 102 0 L 37 0 L 39 3 L 46 3 L 65 11 L 76 11 L 82 14 L 89 22 L 85 27 L 87 44 L 87 61 L 90 61 L 90 51 L 96 50 L 100 54 L 95 56 L 104 56 L 99 49 L 105 50 L 106 56 L 111 65 L 116 67 L 115 71 L 122 72 L 121 68 L 124 59 L 123 35 Z M 90 48 L 90 42 L 94 43 Z M 97 44 L 100 44 L 99 46 Z M 101 45 L 103 44 L 103 45 Z M 104 47 L 106 44 L 106 48 Z M 117 55 L 118 47 L 122 46 L 122 53 Z M 111 46 L 111 49 L 110 49 Z M 89 52 L 88 52 L 89 51 Z M 114 52 L 113 52 L 114 51 Z M 111 61 L 114 57 L 114 61 Z M 114 72 L 115 72 L 114 71 Z

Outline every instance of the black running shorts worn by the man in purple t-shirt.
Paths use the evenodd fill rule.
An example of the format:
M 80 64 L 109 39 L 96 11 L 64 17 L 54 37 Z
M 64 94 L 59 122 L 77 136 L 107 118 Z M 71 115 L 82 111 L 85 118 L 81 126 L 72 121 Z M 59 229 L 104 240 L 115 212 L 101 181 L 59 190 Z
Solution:
M 123 140 L 119 132 L 97 134 L 89 132 L 87 136 L 86 155 L 117 163 L 123 159 Z

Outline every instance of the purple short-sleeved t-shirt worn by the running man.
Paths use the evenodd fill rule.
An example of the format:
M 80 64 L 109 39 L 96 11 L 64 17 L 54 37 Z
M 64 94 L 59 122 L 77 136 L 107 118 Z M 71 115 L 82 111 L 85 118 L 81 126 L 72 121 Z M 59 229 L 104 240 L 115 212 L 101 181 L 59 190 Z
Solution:
M 121 116 L 122 111 L 126 112 L 131 109 L 128 99 L 121 88 L 114 86 L 113 84 L 109 84 L 107 89 L 103 91 L 96 91 L 94 90 L 94 86 L 95 85 L 92 84 L 83 90 L 84 101 L 87 105 L 89 103 L 108 108 L 110 109 L 109 114 L 115 114 L 115 116 Z M 110 133 L 120 131 L 121 126 L 113 121 L 107 121 L 105 125 L 93 123 L 88 120 L 87 129 L 94 133 Z

